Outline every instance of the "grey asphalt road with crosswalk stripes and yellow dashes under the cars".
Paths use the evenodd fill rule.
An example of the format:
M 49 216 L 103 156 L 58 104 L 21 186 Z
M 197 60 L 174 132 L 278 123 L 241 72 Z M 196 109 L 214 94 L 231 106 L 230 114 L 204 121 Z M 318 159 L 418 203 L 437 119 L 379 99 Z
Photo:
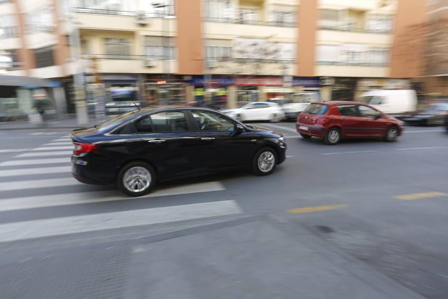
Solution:
M 287 136 L 287 160 L 272 175 L 185 179 L 136 199 L 72 179 L 69 130 L 0 132 L 1 260 L 21 261 L 55 244 L 144 237 L 139 227 L 148 225 L 166 232 L 179 221 L 194 226 L 200 219 L 269 213 L 426 298 L 448 298 L 443 128 L 407 127 L 395 143 L 327 146 L 302 139 L 294 123 L 261 125 Z

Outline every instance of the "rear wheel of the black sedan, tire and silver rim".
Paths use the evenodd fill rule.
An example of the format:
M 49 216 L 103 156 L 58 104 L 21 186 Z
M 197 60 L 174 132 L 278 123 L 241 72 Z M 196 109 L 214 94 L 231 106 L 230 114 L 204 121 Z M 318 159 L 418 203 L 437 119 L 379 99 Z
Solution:
M 130 162 L 121 167 L 116 178 L 118 188 L 129 196 L 148 194 L 156 184 L 154 168 L 146 162 Z

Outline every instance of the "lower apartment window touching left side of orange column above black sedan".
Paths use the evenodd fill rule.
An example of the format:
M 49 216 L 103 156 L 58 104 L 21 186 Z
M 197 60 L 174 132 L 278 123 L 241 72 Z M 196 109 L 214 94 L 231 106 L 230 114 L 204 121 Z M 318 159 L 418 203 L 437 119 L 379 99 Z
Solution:
M 176 59 L 176 48 L 172 37 L 167 36 L 145 36 L 146 58 L 154 60 Z

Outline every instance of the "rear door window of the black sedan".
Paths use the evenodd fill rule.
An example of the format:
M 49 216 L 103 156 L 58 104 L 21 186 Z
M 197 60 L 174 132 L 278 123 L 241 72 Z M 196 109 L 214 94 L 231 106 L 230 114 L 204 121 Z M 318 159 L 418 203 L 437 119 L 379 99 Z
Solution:
M 181 111 L 155 113 L 135 122 L 138 133 L 185 132 L 187 120 Z

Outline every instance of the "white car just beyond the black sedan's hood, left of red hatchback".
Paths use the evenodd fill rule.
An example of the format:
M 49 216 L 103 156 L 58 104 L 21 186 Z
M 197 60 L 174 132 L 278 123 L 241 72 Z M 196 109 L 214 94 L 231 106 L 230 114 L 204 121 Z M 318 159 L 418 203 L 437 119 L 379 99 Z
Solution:
M 252 102 L 241 108 L 224 110 L 222 112 L 240 122 L 271 121 L 275 123 L 285 118 L 285 113 L 280 105 L 270 102 Z

